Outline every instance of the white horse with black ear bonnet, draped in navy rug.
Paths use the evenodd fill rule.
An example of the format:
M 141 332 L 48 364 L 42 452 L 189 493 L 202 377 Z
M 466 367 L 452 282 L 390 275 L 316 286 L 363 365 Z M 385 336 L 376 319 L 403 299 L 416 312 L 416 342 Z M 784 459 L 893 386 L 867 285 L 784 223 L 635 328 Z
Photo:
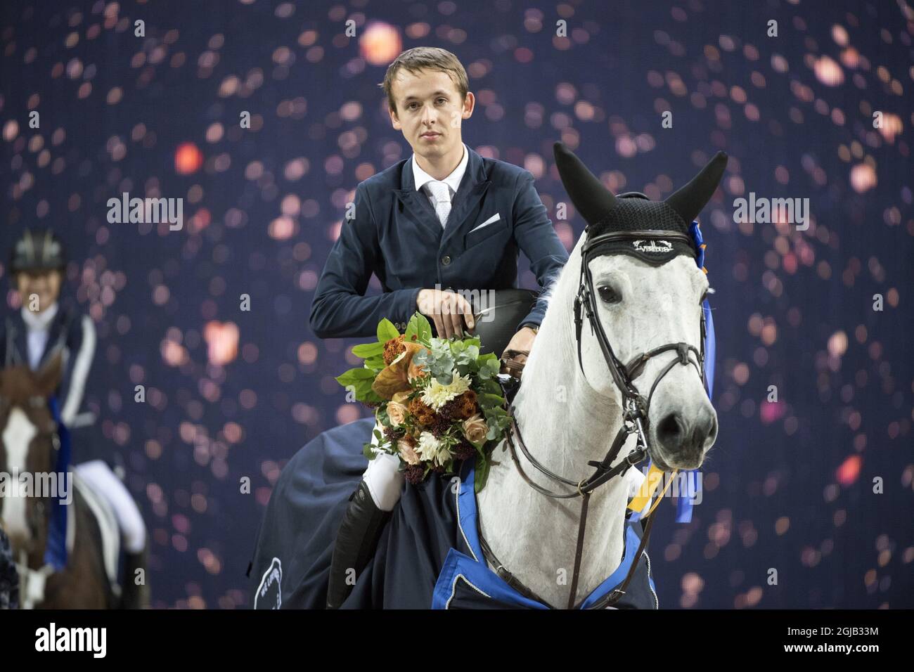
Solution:
M 614 468 L 612 473 L 595 471 L 588 463 L 607 467 L 601 463 L 612 460 L 613 467 L 624 466 L 622 461 L 634 449 L 642 456 L 646 450 L 664 470 L 691 469 L 702 464 L 717 438 L 717 416 L 702 379 L 701 302 L 707 280 L 696 265 L 689 225 L 717 188 L 726 156 L 717 155 L 664 202 L 643 195 L 614 196 L 562 144 L 556 146 L 556 161 L 588 229 L 549 288 L 547 312 L 513 401 L 523 442 L 509 434 L 495 448 L 487 484 L 476 498 L 476 513 L 482 533 L 479 547 L 492 559 L 486 560 L 491 569 L 503 577 L 507 571 L 507 579 L 515 580 L 509 585 L 521 594 L 532 592 L 537 602 L 574 606 L 621 565 L 630 485 L 641 479 L 633 467 L 618 477 Z M 588 261 L 585 268 L 590 271 L 583 283 L 582 260 Z M 576 304 L 581 286 L 587 290 L 587 301 Z M 347 446 L 357 439 L 370 440 L 373 422 L 366 418 L 323 432 L 282 470 L 251 562 L 254 594 L 259 597 L 255 607 L 260 603 L 320 608 L 326 603 L 347 502 L 373 496 L 361 487 L 353 493 L 365 460 Z M 632 423 L 640 428 L 637 447 L 623 441 Z M 505 453 L 505 444 L 519 449 L 518 463 Z M 619 449 L 614 459 L 611 447 Z M 632 462 L 637 460 L 632 457 Z M 391 482 L 399 490 L 399 484 Z M 470 546 L 459 522 L 459 500 L 452 500 L 461 492 L 434 478 L 399 490 L 399 508 L 387 536 L 381 535 L 385 540 L 378 542 L 383 548 L 377 550 L 370 571 L 359 575 L 352 589 L 355 595 L 350 595 L 354 599 L 343 598 L 346 605 L 433 605 L 436 595 L 441 597 L 438 583 L 445 576 L 450 578 L 441 585 L 452 590 L 453 598 L 462 575 L 445 575 L 442 563 L 451 558 L 449 571 L 458 571 L 454 562 L 482 561 L 472 548 L 473 559 L 457 549 Z M 584 502 L 587 517 L 582 516 Z M 459 531 L 450 527 L 454 514 Z M 468 516 L 473 519 L 472 512 Z M 579 552 L 582 519 L 590 523 L 584 526 Z M 372 517 L 371 525 L 379 525 L 378 520 Z M 376 532 L 378 528 L 372 527 L 356 540 Z M 448 549 L 451 535 L 456 546 Z M 364 553 L 374 550 L 357 552 L 364 559 Z M 452 555 L 452 550 L 457 553 Z M 626 550 L 626 557 L 633 554 L 634 549 Z M 635 559 L 632 568 L 639 564 Z M 341 566 L 345 571 L 352 567 Z M 473 564 L 467 567 L 475 570 Z M 361 568 L 367 564 L 356 573 Z M 437 579 L 429 575 L 435 569 Z M 569 581 L 560 581 L 566 576 L 571 584 L 577 579 L 575 590 Z M 518 581 L 523 586 L 517 586 Z M 475 593 L 499 601 L 467 583 L 468 590 L 475 588 Z M 600 595 L 598 603 L 610 605 L 618 597 L 617 592 Z

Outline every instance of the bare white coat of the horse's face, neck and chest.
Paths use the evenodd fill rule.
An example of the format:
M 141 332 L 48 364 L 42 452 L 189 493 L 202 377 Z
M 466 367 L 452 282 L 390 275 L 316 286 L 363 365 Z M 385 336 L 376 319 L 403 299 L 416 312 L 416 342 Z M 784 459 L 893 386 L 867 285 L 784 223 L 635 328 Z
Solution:
M 691 208 L 696 207 L 696 200 L 701 201 L 695 215 L 717 187 L 719 176 L 711 176 L 713 186 L 704 187 L 707 196 L 692 195 Z M 592 183 L 578 183 L 576 189 L 568 176 L 563 174 L 562 178 L 586 216 L 586 206 L 578 202 L 582 197 L 576 197 L 575 191 L 578 195 L 592 191 L 599 182 L 590 176 Z M 683 191 L 693 187 L 690 183 Z M 594 214 L 589 221 L 593 223 L 603 210 L 590 209 Z M 686 208 L 684 218 L 688 212 Z M 558 280 L 549 288 L 546 316 L 514 401 L 515 419 L 529 452 L 553 473 L 574 481 L 592 474 L 588 461 L 603 459 L 623 417 L 622 393 L 611 378 L 587 320 L 581 329 L 579 367 L 573 304 L 586 238 L 586 234 L 581 235 Z M 622 363 L 671 343 L 687 343 L 701 351 L 700 304 L 708 283 L 695 259 L 680 255 L 654 266 L 632 256 L 611 254 L 593 258 L 590 272 L 593 288 L 600 294 L 600 322 Z M 607 297 L 611 300 L 604 300 Z M 647 361 L 635 381 L 645 398 L 654 380 L 676 357 L 675 352 L 667 351 Z M 650 405 L 647 438 L 654 464 L 664 470 L 694 469 L 702 464 L 717 438 L 717 414 L 695 367 L 675 366 L 665 373 Z M 632 435 L 613 464 L 621 463 L 634 447 Z M 569 581 L 558 578 L 570 576 L 574 566 L 580 499 L 555 499 L 537 492 L 526 483 L 504 448 L 503 442 L 495 449 L 488 483 L 477 497 L 482 535 L 499 562 L 527 588 L 550 604 L 562 605 L 569 599 Z M 518 452 L 517 457 L 529 478 L 545 488 L 558 489 L 523 453 Z M 628 474 L 642 478 L 634 468 Z M 621 563 L 631 484 L 631 477 L 614 478 L 590 496 L 579 598 L 597 588 Z

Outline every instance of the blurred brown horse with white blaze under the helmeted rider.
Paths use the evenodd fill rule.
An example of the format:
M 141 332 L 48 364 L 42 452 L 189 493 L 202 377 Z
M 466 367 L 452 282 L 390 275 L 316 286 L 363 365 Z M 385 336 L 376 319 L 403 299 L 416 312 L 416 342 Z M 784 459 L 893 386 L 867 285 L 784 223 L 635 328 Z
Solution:
M 27 367 L 0 371 L 0 473 L 13 483 L 19 475 L 50 474 L 59 446 L 57 422 L 48 397 L 58 388 L 60 353 L 38 371 Z M 54 504 L 48 493 L 19 496 L 11 501 L 0 489 L 0 528 L 9 536 L 19 573 L 19 602 L 45 609 L 142 608 L 144 592 L 133 577 L 124 577 L 123 592 L 106 571 L 99 512 L 112 518 L 103 498 L 80 486 L 72 472 L 72 501 L 68 511 L 68 557 L 63 571 L 45 563 L 49 517 Z M 37 478 L 36 478 L 37 481 Z M 90 502 L 89 500 L 92 500 Z M 143 593 L 143 597 L 141 597 Z

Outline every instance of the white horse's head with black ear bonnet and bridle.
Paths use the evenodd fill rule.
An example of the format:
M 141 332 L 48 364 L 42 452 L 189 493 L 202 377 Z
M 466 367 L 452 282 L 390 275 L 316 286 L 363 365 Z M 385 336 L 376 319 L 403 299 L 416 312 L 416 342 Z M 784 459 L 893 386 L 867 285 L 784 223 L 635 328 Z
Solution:
M 613 195 L 564 145 L 555 150 L 562 182 L 588 222 L 569 260 L 581 271 L 580 369 L 622 408 L 640 396 L 654 463 L 696 468 L 717 439 L 717 413 L 702 379 L 708 283 L 689 225 L 717 188 L 727 156 L 719 153 L 656 202 Z

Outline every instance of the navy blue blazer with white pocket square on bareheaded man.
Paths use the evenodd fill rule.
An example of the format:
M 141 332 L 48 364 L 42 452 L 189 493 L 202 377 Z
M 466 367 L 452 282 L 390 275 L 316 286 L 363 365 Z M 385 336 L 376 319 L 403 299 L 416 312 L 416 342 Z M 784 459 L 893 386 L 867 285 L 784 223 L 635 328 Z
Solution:
M 455 292 L 516 287 L 518 250 L 530 260 L 540 287 L 558 276 L 569 253 L 533 175 L 467 151 L 466 172 L 444 229 L 429 198 L 416 190 L 411 157 L 356 187 L 354 217 L 343 220 L 314 293 L 315 336 L 375 336 L 384 317 L 402 331 L 417 310 L 420 290 L 436 284 Z M 493 223 L 472 230 L 496 215 Z M 384 293 L 365 296 L 372 272 Z M 546 302 L 540 298 L 517 328 L 539 325 L 544 315 Z

